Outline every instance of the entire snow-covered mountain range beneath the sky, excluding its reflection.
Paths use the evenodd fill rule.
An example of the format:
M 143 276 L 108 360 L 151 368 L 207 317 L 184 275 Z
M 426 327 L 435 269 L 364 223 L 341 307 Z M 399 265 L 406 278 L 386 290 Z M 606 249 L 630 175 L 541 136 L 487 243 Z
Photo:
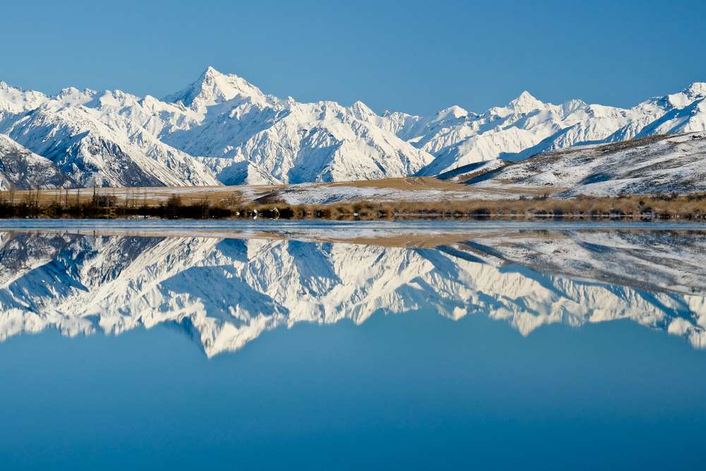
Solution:
M 706 83 L 622 109 L 523 92 L 476 114 L 300 103 L 208 67 L 162 100 L 0 82 L 0 188 L 214 186 L 437 175 L 575 145 L 706 130 Z

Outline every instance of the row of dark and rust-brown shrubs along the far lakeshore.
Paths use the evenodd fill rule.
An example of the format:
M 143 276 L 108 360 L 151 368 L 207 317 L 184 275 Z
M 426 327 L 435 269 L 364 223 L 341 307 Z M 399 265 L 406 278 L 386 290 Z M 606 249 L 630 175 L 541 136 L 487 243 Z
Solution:
M 8 192 L 4 192 L 8 193 Z M 52 218 L 164 218 L 164 219 L 428 219 L 428 218 L 620 218 L 637 220 L 705 220 L 706 193 L 687 195 L 534 198 L 503 200 L 454 200 L 436 202 L 330 203 L 325 205 L 289 205 L 287 203 L 214 204 L 209 201 L 183 203 L 173 195 L 162 203 L 120 203 L 114 196 L 94 195 L 89 200 L 58 198 L 42 201 L 39 192 L 28 193 L 21 201 L 0 194 L 0 217 Z M 36 194 L 36 197 L 32 195 Z

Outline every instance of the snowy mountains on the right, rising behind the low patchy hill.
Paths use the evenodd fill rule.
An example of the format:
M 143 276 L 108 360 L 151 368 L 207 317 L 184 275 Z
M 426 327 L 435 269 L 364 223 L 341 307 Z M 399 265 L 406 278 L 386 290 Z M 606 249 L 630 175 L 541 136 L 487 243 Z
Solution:
M 507 106 L 483 114 L 451 107 L 434 117 L 393 113 L 386 119 L 398 136 L 436 157 L 420 172 L 434 175 L 474 162 L 521 160 L 571 145 L 704 131 L 705 96 L 706 83 L 693 83 L 680 93 L 621 109 L 581 100 L 552 105 L 523 92 Z

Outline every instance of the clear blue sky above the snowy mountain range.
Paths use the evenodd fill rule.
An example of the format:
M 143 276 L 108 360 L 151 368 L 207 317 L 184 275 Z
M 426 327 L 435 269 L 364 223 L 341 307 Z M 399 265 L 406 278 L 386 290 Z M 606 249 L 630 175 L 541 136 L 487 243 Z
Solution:
M 105 3 L 105 5 L 102 5 Z M 631 106 L 706 81 L 706 1 L 13 1 L 0 80 L 162 97 L 205 66 L 299 101 Z

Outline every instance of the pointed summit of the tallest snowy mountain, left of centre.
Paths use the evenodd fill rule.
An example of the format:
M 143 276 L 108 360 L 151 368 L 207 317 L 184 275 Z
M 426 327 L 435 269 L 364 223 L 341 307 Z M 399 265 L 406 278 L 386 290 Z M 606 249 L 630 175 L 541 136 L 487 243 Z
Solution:
M 212 66 L 206 67 L 201 77 L 184 90 L 164 97 L 164 101 L 181 102 L 186 107 L 201 109 L 234 98 L 264 100 L 265 94 L 255 85 L 235 74 L 225 74 Z

